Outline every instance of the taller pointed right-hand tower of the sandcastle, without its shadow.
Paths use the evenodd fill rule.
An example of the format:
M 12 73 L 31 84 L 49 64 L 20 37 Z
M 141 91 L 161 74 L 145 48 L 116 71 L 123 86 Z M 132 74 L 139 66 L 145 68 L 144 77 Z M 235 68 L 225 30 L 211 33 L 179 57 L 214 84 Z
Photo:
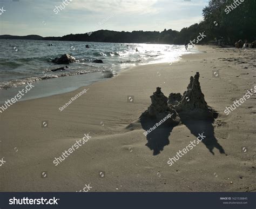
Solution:
M 187 86 L 187 91 L 184 92 L 179 104 L 175 107 L 180 114 L 193 114 L 198 118 L 213 118 L 213 110 L 205 102 L 204 94 L 201 91 L 199 83 L 199 72 L 194 77 L 190 77 L 190 84 Z

